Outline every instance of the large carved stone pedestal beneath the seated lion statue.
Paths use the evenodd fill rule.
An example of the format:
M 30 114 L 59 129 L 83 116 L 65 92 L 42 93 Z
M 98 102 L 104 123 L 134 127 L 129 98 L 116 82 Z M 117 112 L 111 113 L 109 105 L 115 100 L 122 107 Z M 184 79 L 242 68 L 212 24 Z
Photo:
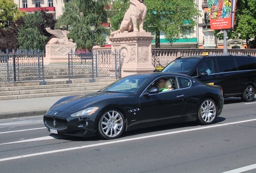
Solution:
M 151 32 L 117 33 L 109 38 L 112 51 L 121 50 L 122 77 L 155 70 L 151 53 L 153 38 Z

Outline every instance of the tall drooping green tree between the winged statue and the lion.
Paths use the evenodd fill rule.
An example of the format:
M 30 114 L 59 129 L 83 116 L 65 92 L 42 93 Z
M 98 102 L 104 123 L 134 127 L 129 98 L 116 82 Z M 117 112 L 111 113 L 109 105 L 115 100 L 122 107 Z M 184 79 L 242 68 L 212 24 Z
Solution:
M 58 18 L 56 29 L 68 30 L 68 38 L 72 38 L 78 49 L 92 48 L 92 32 L 90 26 L 95 25 L 94 45 L 103 46 L 105 36 L 109 34 L 102 23 L 109 16 L 108 0 L 72 0 L 65 4 L 65 13 Z

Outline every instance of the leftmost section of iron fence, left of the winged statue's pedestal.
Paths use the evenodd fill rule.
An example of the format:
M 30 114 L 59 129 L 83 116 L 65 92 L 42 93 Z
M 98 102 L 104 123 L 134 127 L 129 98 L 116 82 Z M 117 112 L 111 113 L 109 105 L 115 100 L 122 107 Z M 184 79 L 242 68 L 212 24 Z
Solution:
M 39 50 L 0 50 L 0 82 L 43 80 L 43 57 Z

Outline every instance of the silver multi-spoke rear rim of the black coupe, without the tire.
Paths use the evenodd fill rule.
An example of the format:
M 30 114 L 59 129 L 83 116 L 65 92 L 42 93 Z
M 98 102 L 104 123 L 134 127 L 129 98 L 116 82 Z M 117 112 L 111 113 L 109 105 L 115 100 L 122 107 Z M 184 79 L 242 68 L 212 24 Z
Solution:
M 201 105 L 201 117 L 206 123 L 211 123 L 216 117 L 216 106 L 212 100 L 206 100 Z

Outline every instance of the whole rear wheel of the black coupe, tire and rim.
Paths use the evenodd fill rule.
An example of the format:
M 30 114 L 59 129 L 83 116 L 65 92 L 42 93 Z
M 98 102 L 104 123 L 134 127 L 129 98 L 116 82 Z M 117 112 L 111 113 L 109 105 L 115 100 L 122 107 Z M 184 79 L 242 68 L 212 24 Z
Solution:
M 218 110 L 215 101 L 206 98 L 200 103 L 196 122 L 201 125 L 212 124 L 217 117 L 217 113 Z

